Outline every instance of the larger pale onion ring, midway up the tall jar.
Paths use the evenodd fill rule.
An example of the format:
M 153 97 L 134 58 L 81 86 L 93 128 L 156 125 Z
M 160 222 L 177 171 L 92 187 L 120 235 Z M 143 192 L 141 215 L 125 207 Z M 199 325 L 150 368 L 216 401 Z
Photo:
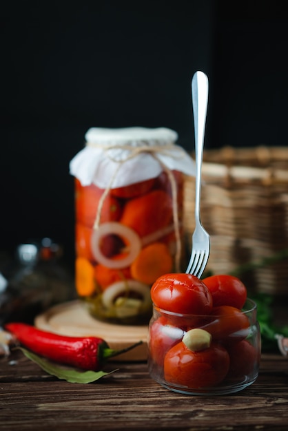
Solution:
M 101 252 L 99 247 L 101 238 L 111 233 L 116 233 L 116 235 L 119 235 L 121 238 L 128 240 L 130 244 L 127 255 L 125 255 L 123 259 L 110 259 Z M 118 222 L 107 222 L 100 224 L 99 228 L 92 233 L 91 248 L 96 262 L 107 266 L 107 268 L 121 269 L 130 266 L 130 264 L 134 262 L 141 250 L 141 240 L 137 233 L 132 231 L 130 227 L 124 226 L 124 224 Z

